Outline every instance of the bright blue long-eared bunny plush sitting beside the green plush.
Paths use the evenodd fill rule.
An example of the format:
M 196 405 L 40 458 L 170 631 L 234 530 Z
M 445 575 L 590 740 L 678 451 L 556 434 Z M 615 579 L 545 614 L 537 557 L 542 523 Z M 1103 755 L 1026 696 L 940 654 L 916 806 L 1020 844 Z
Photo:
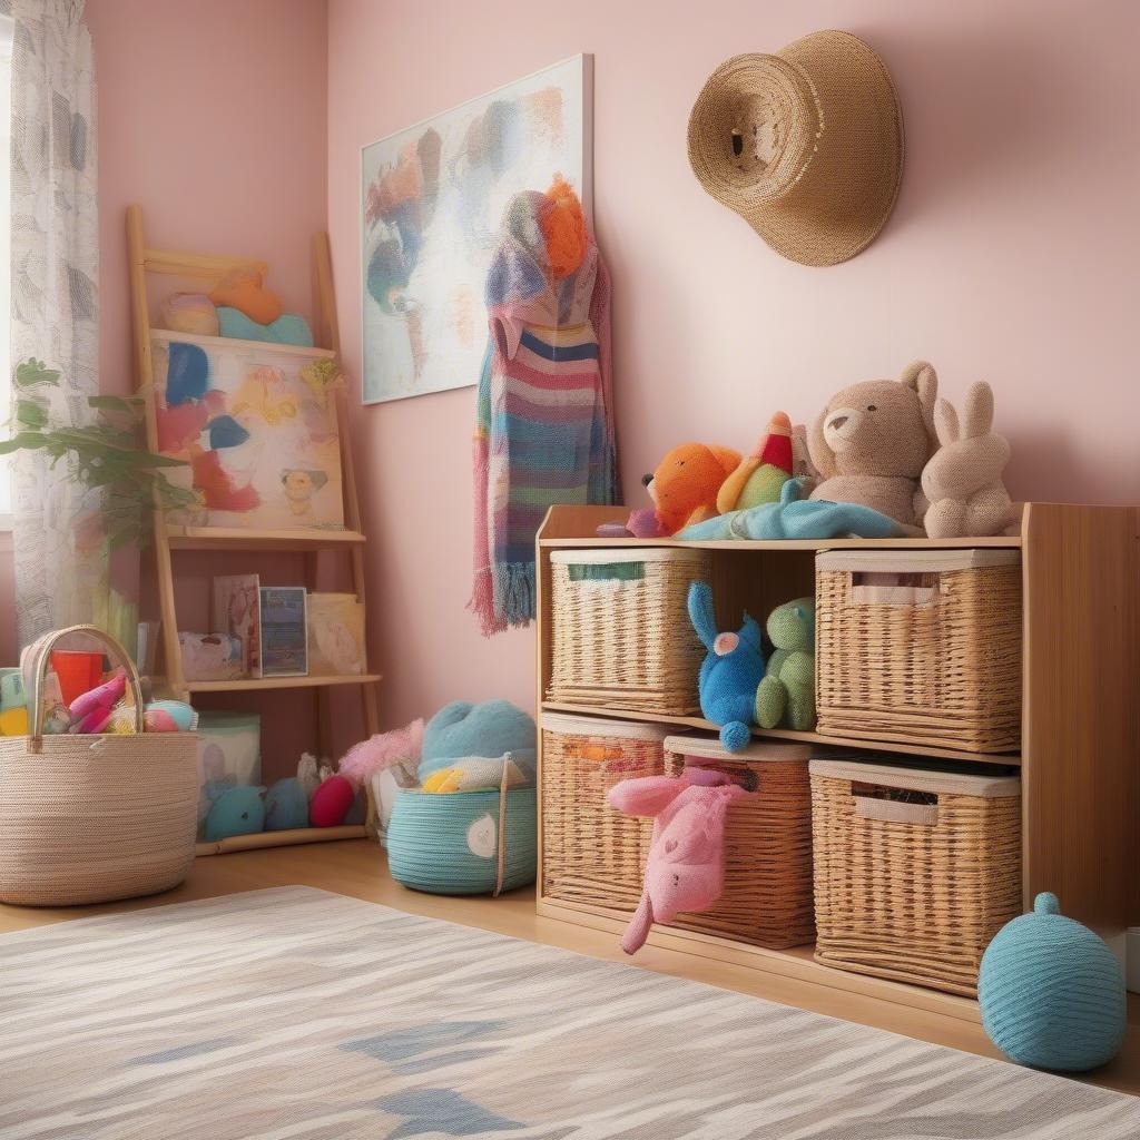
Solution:
M 708 650 L 698 679 L 701 712 L 720 725 L 720 743 L 739 752 L 751 740 L 749 727 L 756 724 L 756 687 L 764 677 L 760 627 L 746 613 L 738 633 L 719 633 L 712 591 L 705 581 L 689 587 L 689 618 Z

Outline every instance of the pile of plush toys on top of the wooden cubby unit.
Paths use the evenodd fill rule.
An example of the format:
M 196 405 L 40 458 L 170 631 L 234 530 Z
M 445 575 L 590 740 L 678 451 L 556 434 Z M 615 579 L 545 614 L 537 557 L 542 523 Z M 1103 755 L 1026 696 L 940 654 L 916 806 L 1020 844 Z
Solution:
M 653 506 L 600 530 L 691 540 L 1002 534 L 1013 521 L 1010 453 L 993 410 L 990 385 L 977 383 L 959 415 L 919 360 L 898 380 L 840 389 L 811 431 L 775 413 L 746 458 L 675 447 L 643 480 Z

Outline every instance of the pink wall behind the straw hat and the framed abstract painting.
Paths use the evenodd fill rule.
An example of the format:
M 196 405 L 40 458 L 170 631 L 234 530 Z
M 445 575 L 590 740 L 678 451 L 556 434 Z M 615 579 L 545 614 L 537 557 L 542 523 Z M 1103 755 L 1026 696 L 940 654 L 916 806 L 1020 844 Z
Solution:
M 915 357 L 960 396 L 993 382 L 1015 497 L 1140 500 L 1135 459 L 1132 44 L 1102 0 L 579 0 L 529 22 L 505 0 L 329 0 L 328 213 L 349 367 L 359 369 L 363 144 L 578 51 L 595 56 L 596 219 L 616 284 L 628 500 L 684 438 L 750 447 L 769 413 L 812 417 Z M 868 39 L 898 85 L 895 215 L 832 269 L 781 260 L 700 188 L 685 124 L 708 73 L 820 27 Z M 464 612 L 473 389 L 364 408 L 372 633 L 393 722 L 443 701 L 534 700 L 534 637 L 484 642 Z M 378 603 L 378 604 L 377 604 Z

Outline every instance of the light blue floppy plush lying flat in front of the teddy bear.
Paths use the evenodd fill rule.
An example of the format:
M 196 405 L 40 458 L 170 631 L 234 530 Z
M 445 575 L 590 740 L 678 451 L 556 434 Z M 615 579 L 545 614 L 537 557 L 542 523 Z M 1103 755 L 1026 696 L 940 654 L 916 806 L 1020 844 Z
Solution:
M 789 479 L 779 503 L 762 503 L 747 511 L 685 527 L 676 537 L 693 540 L 724 538 L 897 538 L 903 530 L 894 519 L 858 503 L 829 503 L 804 498 L 798 479 Z

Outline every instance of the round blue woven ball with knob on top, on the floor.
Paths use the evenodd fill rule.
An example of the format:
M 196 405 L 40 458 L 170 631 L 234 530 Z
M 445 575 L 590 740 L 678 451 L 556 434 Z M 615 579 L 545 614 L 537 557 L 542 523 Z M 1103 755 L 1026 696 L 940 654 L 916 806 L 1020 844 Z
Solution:
M 1083 1073 L 1112 1060 L 1124 1041 L 1119 962 L 1102 938 L 1059 913 L 1048 891 L 990 943 L 978 1004 L 990 1040 L 1033 1068 Z

